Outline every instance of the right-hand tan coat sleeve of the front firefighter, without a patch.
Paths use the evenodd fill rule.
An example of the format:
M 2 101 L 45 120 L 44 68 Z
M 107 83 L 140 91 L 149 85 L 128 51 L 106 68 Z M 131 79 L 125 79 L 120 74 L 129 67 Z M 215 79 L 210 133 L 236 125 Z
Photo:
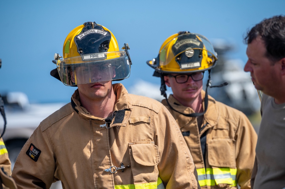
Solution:
M 153 124 L 160 156 L 157 167 L 165 189 L 200 188 L 189 148 L 176 121 L 164 106 L 154 117 Z

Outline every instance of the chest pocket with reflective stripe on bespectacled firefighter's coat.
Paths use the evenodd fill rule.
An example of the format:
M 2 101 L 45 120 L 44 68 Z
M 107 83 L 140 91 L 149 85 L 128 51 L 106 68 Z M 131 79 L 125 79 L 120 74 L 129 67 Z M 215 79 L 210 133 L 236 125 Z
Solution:
M 207 177 L 209 175 L 219 188 L 236 186 L 235 140 L 215 138 L 207 142 L 207 149 L 211 166 L 206 173 Z

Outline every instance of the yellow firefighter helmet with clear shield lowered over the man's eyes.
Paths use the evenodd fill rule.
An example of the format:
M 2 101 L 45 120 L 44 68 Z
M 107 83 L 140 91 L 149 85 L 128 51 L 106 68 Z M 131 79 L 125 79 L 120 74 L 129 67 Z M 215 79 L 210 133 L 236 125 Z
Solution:
M 130 76 L 129 46 L 120 50 L 115 36 L 95 22 L 74 28 L 63 45 L 63 59 L 55 54 L 50 74 L 67 86 L 122 80 Z

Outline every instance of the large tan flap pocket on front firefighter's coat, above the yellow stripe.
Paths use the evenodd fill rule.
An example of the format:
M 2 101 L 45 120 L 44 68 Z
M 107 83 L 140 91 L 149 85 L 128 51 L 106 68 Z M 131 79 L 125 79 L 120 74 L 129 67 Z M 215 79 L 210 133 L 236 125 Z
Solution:
M 151 141 L 129 143 L 134 184 L 157 182 L 158 147 Z

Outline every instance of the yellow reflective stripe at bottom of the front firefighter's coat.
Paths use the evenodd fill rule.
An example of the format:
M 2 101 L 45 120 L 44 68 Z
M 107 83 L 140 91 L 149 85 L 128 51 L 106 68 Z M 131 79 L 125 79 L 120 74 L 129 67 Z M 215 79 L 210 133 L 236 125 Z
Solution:
M 157 182 L 145 184 L 115 185 L 115 189 L 164 189 L 164 186 L 161 178 L 158 177 Z

